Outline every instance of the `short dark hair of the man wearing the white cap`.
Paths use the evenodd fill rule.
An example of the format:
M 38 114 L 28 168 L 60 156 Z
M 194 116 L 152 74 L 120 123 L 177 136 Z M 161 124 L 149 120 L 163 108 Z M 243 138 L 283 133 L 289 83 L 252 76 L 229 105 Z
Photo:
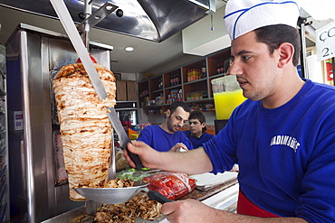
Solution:
M 294 66 L 299 64 L 301 51 L 300 34 L 292 26 L 286 24 L 275 24 L 263 26 L 254 30 L 258 42 L 265 43 L 273 54 L 273 51 L 279 47 L 282 42 L 290 42 L 294 47 L 292 62 Z

